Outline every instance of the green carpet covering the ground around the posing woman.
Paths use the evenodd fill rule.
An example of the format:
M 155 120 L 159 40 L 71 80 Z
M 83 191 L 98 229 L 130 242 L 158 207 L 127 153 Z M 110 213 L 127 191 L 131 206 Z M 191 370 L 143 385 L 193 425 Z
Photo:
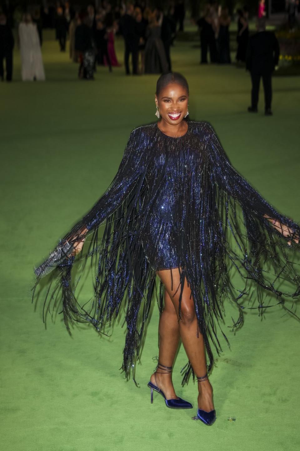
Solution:
M 299 449 L 300 322 L 273 308 L 247 313 L 210 380 L 217 421 L 192 421 L 197 390 L 180 386 L 183 347 L 175 364 L 179 396 L 195 409 L 166 409 L 146 386 L 157 355 L 153 311 L 140 387 L 118 371 L 124 329 L 98 336 L 61 316 L 47 330 L 30 303 L 33 266 L 53 249 L 99 198 L 116 173 L 131 129 L 155 119 L 157 76 L 125 77 L 99 68 L 94 82 L 77 80 L 77 66 L 50 39 L 43 45 L 47 81 L 22 83 L 15 52 L 14 81 L 0 85 L 1 120 L 1 423 L 3 451 L 205 451 Z M 122 60 L 122 42 L 117 43 Z M 190 83 L 190 115 L 209 120 L 233 165 L 278 210 L 300 221 L 300 78 L 273 81 L 273 117 L 249 115 L 250 78 L 244 69 L 198 64 L 199 50 L 172 48 L 174 69 Z M 233 313 L 225 310 L 225 326 Z M 235 422 L 228 421 L 234 417 Z

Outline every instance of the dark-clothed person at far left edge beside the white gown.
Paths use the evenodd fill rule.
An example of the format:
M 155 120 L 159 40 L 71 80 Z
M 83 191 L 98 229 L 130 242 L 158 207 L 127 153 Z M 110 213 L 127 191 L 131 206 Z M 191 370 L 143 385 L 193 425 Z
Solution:
M 4 60 L 6 81 L 11 82 L 13 78 L 13 32 L 7 23 L 7 17 L 0 13 L 0 79 L 4 81 Z

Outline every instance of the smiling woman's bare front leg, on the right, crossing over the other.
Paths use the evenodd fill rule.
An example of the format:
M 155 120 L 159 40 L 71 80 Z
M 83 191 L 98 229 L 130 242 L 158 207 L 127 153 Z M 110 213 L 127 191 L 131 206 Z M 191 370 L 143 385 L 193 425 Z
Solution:
M 171 283 L 171 271 L 173 276 L 173 287 Z M 162 283 L 170 296 L 175 307 L 177 317 L 179 318 L 179 295 L 180 295 L 180 276 L 178 268 L 173 270 L 163 270 L 158 272 Z M 175 294 L 175 291 L 179 290 Z M 173 289 L 172 289 L 173 288 Z M 196 376 L 201 377 L 206 374 L 206 355 L 203 336 L 199 331 L 197 316 L 195 313 L 193 297 L 187 280 L 184 279 L 184 288 L 181 301 L 181 320 L 179 321 L 179 333 L 185 352 L 191 362 Z M 165 364 L 161 362 L 162 364 Z M 165 364 L 167 365 L 167 364 Z M 168 365 L 169 366 L 169 365 Z M 214 409 L 213 390 L 209 380 L 198 382 L 198 407 L 209 412 Z

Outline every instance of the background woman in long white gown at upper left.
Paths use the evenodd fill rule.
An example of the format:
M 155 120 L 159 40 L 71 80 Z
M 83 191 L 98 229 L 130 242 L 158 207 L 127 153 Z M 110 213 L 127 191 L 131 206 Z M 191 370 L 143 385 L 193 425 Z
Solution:
M 30 14 L 24 14 L 19 24 L 19 42 L 22 80 L 45 80 L 40 39 Z

